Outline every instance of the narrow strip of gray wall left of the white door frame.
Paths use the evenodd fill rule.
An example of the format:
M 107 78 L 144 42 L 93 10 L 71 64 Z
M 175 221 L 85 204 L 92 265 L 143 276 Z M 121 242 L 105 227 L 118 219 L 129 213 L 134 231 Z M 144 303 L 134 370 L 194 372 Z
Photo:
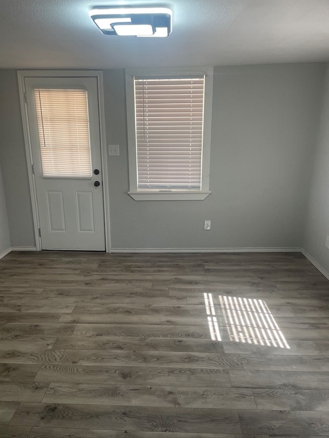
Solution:
M 16 70 L 0 70 L 0 163 L 11 246 L 35 246 Z

